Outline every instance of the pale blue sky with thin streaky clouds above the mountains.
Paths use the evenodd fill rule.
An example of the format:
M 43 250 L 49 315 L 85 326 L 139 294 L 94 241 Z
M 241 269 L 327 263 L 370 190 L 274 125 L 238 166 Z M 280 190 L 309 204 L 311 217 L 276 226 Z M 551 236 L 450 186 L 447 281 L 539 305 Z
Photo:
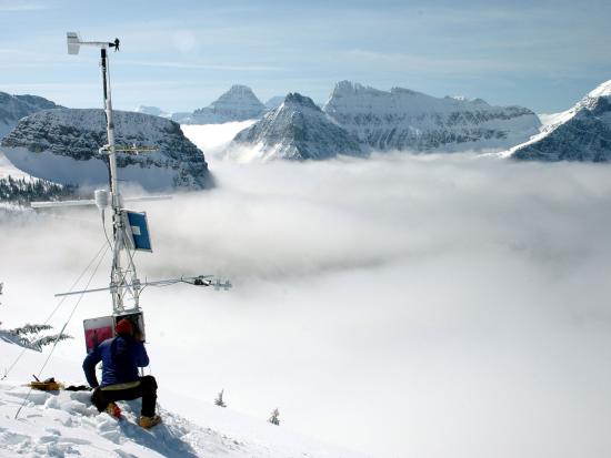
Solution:
M 114 106 L 191 111 L 233 83 L 262 100 L 334 83 L 568 109 L 611 79 L 611 2 L 0 0 L 0 91 L 100 105 L 98 53 L 119 37 Z M 605 23 L 607 22 L 607 23 Z

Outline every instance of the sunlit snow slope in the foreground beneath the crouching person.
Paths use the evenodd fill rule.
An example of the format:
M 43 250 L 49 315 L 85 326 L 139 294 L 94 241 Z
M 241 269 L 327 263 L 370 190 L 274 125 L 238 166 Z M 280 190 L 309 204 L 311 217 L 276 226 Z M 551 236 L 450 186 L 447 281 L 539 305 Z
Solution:
M 0 367 L 6 368 L 21 347 L 0 336 Z M 123 419 L 99 414 L 89 391 L 44 393 L 22 386 L 27 366 L 42 363 L 44 355 L 27 350 L 24 364 L 0 381 L 0 456 L 2 457 L 358 457 L 361 455 L 317 442 L 310 438 L 237 414 L 231 409 L 181 396 L 161 394 L 163 423 L 151 430 L 137 426 L 140 400 L 120 401 Z M 76 373 L 80 362 L 53 360 L 59 374 Z M 59 380 L 60 378 L 58 378 Z M 61 378 L 62 381 L 66 378 Z M 197 407 L 206 424 L 197 425 L 171 411 L 172 399 Z M 186 400 L 187 399 L 187 400 Z M 178 403 L 180 404 L 180 401 Z M 24 405 L 19 418 L 14 416 Z M 163 408 L 166 407 L 166 408 Z

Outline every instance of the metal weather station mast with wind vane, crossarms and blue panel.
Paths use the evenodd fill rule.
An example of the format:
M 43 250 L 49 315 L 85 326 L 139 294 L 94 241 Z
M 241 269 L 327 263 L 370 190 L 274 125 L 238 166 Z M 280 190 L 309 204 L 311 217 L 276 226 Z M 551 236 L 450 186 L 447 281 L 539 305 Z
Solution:
M 187 283 L 196 286 L 212 286 L 214 289 L 229 289 L 231 282 L 214 277 L 213 275 L 198 275 L 161 281 L 141 282 L 138 277 L 134 254 L 136 252 L 152 252 L 149 225 L 146 212 L 136 212 L 123 206 L 124 202 L 134 201 L 159 201 L 169 200 L 171 196 L 153 195 L 144 197 L 123 199 L 119 187 L 117 152 L 139 154 L 141 152 L 154 151 L 150 146 L 117 147 L 114 135 L 114 120 L 112 110 L 111 85 L 109 77 L 108 50 L 119 51 L 120 41 L 83 41 L 76 32 L 68 32 L 68 53 L 78 54 L 81 47 L 93 47 L 100 49 L 100 68 L 102 72 L 103 110 L 106 114 L 107 144 L 98 150 L 98 153 L 106 159 L 109 171 L 109 190 L 97 190 L 94 200 L 63 201 L 63 202 L 32 202 L 32 208 L 52 208 L 64 206 L 96 205 L 100 210 L 102 226 L 112 250 L 112 264 L 110 269 L 110 285 L 108 287 L 88 288 L 82 291 L 70 291 L 56 294 L 56 297 L 83 295 L 110 291 L 112 296 L 112 315 L 99 318 L 90 318 L 83 322 L 87 350 L 91 350 L 99 342 L 114 335 L 114 325 L 121 318 L 129 318 L 140 330 L 144 339 L 143 312 L 140 307 L 140 294 L 146 286 L 168 286 L 178 283 Z M 106 211 L 112 214 L 112 238 L 109 238 L 106 231 Z M 129 304 L 128 304 L 129 301 Z

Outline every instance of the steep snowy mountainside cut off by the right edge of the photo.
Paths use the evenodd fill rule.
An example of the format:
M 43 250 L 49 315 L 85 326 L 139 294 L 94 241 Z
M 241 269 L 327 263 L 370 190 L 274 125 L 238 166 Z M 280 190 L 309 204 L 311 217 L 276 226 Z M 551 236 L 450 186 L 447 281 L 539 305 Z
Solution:
M 611 80 L 507 155 L 531 161 L 611 161 Z

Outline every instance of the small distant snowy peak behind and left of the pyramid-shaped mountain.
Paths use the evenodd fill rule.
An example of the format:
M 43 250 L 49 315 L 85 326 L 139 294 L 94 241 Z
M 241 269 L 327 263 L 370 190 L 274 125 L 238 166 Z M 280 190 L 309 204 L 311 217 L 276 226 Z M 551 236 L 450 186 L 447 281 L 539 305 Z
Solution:
M 172 116 L 181 124 L 220 124 L 260 118 L 266 111 L 249 86 L 236 84 L 209 106 L 196 110 L 187 116 Z

